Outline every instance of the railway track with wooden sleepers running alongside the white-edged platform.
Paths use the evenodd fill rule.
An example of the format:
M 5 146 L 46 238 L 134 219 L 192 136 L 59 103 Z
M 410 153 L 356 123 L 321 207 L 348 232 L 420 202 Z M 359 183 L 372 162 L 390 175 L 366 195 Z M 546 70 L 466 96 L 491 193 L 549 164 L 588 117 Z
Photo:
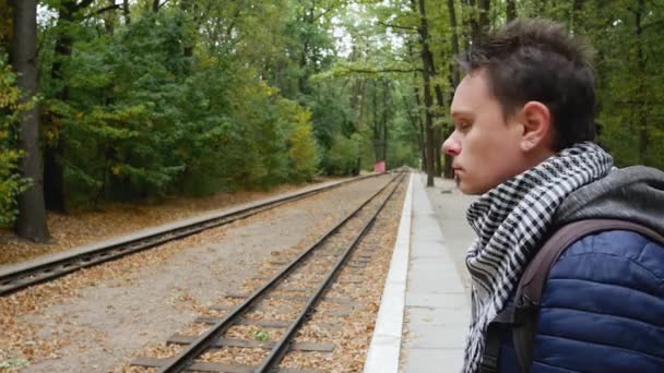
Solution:
M 390 197 L 400 186 L 404 175 L 400 175 L 342 221 L 324 233 L 316 243 L 304 250 L 297 257 L 285 264 L 278 273 L 256 289 L 251 294 L 233 296 L 244 299 L 240 303 L 227 309 L 223 317 L 199 317 L 199 323 L 211 325 L 195 337 L 176 335 L 169 344 L 185 346 L 175 357 L 166 359 L 139 358 L 131 364 L 135 366 L 156 368 L 158 372 L 171 373 L 181 371 L 202 372 L 301 372 L 280 369 L 278 364 L 289 350 L 320 350 L 320 344 L 295 344 L 294 338 L 303 323 L 311 315 L 316 306 L 325 299 L 332 302 L 347 302 L 344 299 L 329 299 L 325 294 L 337 279 L 341 270 L 353 264 L 349 258 L 363 237 L 369 231 L 376 218 Z M 358 255 L 355 267 L 369 261 L 369 254 Z M 321 277 L 322 278 L 319 278 Z M 315 286 L 312 286 L 315 284 Z M 298 296 L 293 296 L 297 293 Z M 244 298 L 246 297 L 246 298 Z M 288 320 L 261 320 L 251 316 L 257 310 L 271 310 L 271 301 L 287 299 L 295 301 L 299 310 Z M 248 340 L 227 337 L 229 328 L 237 325 L 254 325 L 259 328 L 276 329 L 274 340 Z M 272 339 L 272 338 L 271 338 Z M 307 345 L 307 344 L 304 344 Z M 224 347 L 248 347 L 269 350 L 260 365 L 237 365 L 227 362 L 204 361 L 201 358 L 214 353 Z M 324 349 L 324 348 L 323 348 Z M 201 360 L 202 359 L 202 360 Z M 208 359 L 210 360 L 210 359 Z M 214 359 L 212 359 L 214 360 Z M 223 360 L 223 359 L 222 359 Z

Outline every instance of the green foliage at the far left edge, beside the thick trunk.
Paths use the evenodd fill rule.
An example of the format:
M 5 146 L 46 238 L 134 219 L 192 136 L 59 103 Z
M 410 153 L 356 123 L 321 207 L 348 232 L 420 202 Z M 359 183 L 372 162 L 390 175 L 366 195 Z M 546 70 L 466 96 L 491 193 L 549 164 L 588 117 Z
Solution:
M 0 227 L 14 221 L 19 214 L 16 197 L 29 186 L 16 169 L 21 157 L 16 149 L 16 122 L 29 105 L 32 103 L 21 103 L 16 76 L 7 63 L 7 55 L 0 50 Z

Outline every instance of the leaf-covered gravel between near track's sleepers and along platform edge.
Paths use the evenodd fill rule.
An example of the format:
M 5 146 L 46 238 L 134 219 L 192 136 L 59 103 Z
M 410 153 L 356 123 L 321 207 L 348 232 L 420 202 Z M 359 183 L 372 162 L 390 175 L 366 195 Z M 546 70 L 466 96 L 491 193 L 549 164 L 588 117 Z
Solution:
M 294 369 L 299 371 L 318 371 L 318 372 L 359 372 L 364 366 L 366 351 L 368 349 L 372 328 L 380 304 L 380 297 L 384 285 L 384 278 L 388 273 L 391 251 L 394 245 L 399 218 L 401 216 L 401 207 L 405 185 L 402 184 L 398 193 L 388 203 L 383 212 L 379 215 L 378 220 L 372 229 L 360 241 L 355 252 L 349 258 L 349 265 L 346 266 L 340 274 L 337 280 L 323 297 L 303 327 L 297 333 L 294 340 L 294 346 L 308 346 L 320 348 L 331 346 L 327 351 L 290 351 L 286 354 L 281 363 L 281 368 Z M 370 208 L 374 209 L 375 208 Z M 361 214 L 360 214 L 361 215 Z M 367 215 L 366 213 L 364 215 Z M 366 221 L 366 218 L 364 219 Z M 351 222 L 355 229 L 340 231 L 340 236 L 333 239 L 324 246 L 334 249 L 339 238 L 346 237 L 345 240 L 352 240 L 353 231 L 357 232 L 357 224 L 360 221 Z M 363 224 L 364 225 L 364 224 Z M 344 232 L 345 230 L 345 232 Z M 340 242 L 341 243 L 341 242 Z M 321 269 L 324 266 L 324 261 L 329 251 L 321 246 L 316 260 L 316 266 Z M 342 249 L 342 248 L 339 248 Z M 334 251 L 334 250 L 333 250 Z M 284 251 L 281 258 L 287 260 L 288 256 L 296 255 L 297 252 Z M 322 261 L 321 261 L 322 260 Z M 274 258 L 266 260 L 263 263 L 262 270 L 259 276 L 265 273 L 272 273 Z M 311 268 L 308 273 L 294 276 L 290 278 L 287 286 L 293 285 L 294 288 L 301 288 L 307 284 L 311 284 Z M 299 284 L 298 284 L 299 282 Z M 246 280 L 241 288 L 242 293 L 251 291 L 256 287 L 256 280 Z M 289 296 L 299 294 L 299 292 L 290 292 Z M 222 299 L 225 304 L 235 304 L 234 299 Z M 254 311 L 246 315 L 249 320 L 263 321 L 293 321 L 299 308 L 304 303 L 299 300 L 277 300 L 270 301 L 265 306 L 265 311 Z M 260 340 L 274 341 L 278 339 L 283 329 L 269 329 L 252 327 L 233 327 L 233 333 L 226 333 L 226 338 L 241 338 L 245 340 L 257 339 L 256 333 L 262 333 Z M 187 334 L 191 330 L 202 332 L 197 328 L 195 324 L 181 329 L 178 334 Z M 155 354 L 155 351 L 157 353 Z M 169 358 L 173 353 L 161 353 L 165 351 L 164 344 L 156 346 L 147 346 L 139 353 L 140 357 L 157 357 Z M 234 348 L 224 347 L 211 350 L 197 361 L 205 361 L 213 363 L 226 363 L 234 365 L 252 365 L 257 366 L 266 356 L 266 350 L 257 348 Z M 154 369 L 145 368 L 126 368 L 130 372 L 154 372 Z

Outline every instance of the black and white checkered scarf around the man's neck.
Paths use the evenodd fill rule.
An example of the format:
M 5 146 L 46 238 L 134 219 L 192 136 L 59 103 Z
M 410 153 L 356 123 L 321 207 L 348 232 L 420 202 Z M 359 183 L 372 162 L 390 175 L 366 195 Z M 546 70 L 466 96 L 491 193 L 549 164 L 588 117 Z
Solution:
M 466 255 L 473 287 L 463 372 L 477 372 L 488 324 L 515 291 L 560 203 L 574 190 L 605 177 L 612 166 L 610 155 L 600 146 L 580 143 L 471 204 L 466 215 L 477 239 Z

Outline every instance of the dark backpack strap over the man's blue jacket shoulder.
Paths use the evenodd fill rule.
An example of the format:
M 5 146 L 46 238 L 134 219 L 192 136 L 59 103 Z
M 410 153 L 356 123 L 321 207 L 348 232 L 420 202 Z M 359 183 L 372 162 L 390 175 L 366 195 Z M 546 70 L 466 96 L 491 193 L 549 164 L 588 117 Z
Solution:
M 605 230 L 629 230 L 641 233 L 664 244 L 664 237 L 641 225 L 613 219 L 588 219 L 574 221 L 558 229 L 530 262 L 514 296 L 514 325 L 512 338 L 517 359 L 522 372 L 530 372 L 533 364 L 533 347 L 537 332 L 540 305 L 544 284 L 560 254 L 579 239 Z

